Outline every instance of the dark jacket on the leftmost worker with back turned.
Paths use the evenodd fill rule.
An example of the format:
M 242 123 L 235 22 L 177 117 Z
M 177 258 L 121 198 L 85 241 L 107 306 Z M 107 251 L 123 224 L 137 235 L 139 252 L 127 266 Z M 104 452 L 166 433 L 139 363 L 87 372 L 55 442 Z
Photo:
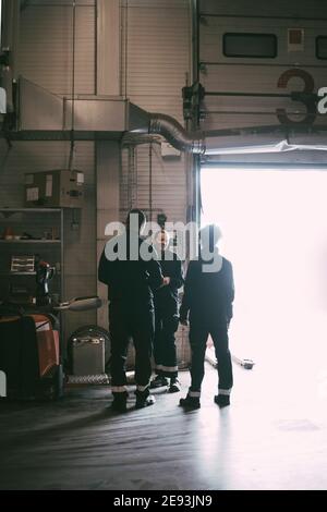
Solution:
M 117 252 L 119 244 L 126 244 L 126 257 L 117 258 L 113 261 L 107 259 L 105 251 L 101 254 L 98 279 L 108 285 L 108 298 L 110 302 L 142 305 L 152 302 L 153 292 L 162 284 L 162 273 L 157 260 L 155 249 L 147 245 L 147 251 L 153 254 L 148 261 L 140 255 L 141 244 L 146 244 L 142 237 L 137 237 L 137 259 L 131 259 L 129 232 L 111 240 Z

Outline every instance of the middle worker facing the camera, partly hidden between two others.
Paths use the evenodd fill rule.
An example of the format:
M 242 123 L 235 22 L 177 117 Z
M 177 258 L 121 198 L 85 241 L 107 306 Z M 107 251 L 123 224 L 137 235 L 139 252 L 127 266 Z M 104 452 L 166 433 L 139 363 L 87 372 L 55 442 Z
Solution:
M 179 326 L 178 290 L 183 284 L 182 261 L 168 248 L 169 234 L 161 230 L 156 236 L 156 247 L 165 285 L 155 291 L 155 343 L 156 378 L 152 388 L 168 386 L 171 393 L 181 390 L 178 380 L 174 333 Z M 168 381 L 168 379 L 170 379 Z

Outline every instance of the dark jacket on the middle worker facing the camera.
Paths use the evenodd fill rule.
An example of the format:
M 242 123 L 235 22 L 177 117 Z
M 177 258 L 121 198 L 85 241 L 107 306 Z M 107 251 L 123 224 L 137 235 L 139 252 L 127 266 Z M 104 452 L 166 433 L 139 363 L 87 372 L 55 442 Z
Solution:
M 178 302 L 178 291 L 184 282 L 183 268 L 181 259 L 172 251 L 167 249 L 159 256 L 162 276 L 170 278 L 170 283 L 155 291 L 155 303 L 165 307 Z

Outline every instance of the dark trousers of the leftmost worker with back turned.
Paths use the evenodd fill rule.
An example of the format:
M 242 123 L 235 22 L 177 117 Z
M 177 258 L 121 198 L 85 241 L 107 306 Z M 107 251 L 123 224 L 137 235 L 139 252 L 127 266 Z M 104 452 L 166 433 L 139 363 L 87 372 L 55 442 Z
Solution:
M 109 326 L 111 341 L 111 386 L 114 391 L 124 391 L 126 385 L 125 361 L 131 339 L 135 346 L 135 381 L 146 388 L 152 376 L 152 352 L 154 340 L 154 307 L 148 305 L 110 304 Z

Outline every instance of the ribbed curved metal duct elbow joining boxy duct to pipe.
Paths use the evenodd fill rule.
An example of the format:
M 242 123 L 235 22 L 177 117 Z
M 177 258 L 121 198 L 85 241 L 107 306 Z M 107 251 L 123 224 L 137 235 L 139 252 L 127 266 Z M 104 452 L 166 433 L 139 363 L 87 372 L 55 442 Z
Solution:
M 194 155 L 205 153 L 202 133 L 187 133 L 186 130 L 170 115 L 152 113 L 148 125 L 149 134 L 162 135 L 175 149 Z

